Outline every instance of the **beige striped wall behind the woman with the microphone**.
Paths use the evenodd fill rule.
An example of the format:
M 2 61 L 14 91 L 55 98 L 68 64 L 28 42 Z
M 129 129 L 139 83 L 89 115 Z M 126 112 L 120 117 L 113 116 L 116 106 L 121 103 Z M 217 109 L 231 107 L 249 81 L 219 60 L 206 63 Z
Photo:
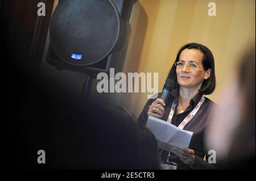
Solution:
M 217 16 L 208 16 L 215 2 Z M 255 41 L 254 0 L 139 0 L 131 14 L 131 37 L 123 72 L 159 73 L 159 91 L 181 46 L 206 45 L 215 58 L 216 96 L 237 67 L 247 44 Z M 147 102 L 147 93 L 122 95 L 119 102 L 136 116 Z

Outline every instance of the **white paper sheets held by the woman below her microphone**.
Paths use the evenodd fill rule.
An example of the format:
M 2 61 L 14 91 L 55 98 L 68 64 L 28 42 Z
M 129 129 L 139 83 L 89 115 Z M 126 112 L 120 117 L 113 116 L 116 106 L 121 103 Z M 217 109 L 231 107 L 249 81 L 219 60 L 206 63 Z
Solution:
M 172 147 L 188 148 L 193 132 L 177 128 L 171 123 L 149 116 L 146 127 L 151 130 L 158 141 L 159 149 L 172 151 Z

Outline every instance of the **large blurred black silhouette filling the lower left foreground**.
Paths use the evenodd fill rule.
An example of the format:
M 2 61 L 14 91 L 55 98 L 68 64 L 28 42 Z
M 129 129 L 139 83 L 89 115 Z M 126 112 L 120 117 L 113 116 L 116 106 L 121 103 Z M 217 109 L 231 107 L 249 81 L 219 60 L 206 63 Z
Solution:
M 155 137 L 125 109 L 61 95 L 52 83 L 10 68 L 4 168 L 158 169 Z M 46 164 L 37 162 L 38 150 L 46 151 Z

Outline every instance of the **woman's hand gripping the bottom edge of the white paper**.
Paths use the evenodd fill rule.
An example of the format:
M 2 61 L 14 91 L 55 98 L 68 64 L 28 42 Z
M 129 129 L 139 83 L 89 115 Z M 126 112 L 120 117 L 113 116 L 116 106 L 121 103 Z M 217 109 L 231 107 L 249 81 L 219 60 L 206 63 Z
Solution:
M 196 156 L 195 156 L 195 151 L 192 149 L 188 148 L 173 148 L 174 150 L 172 151 L 174 154 L 176 154 L 181 161 L 189 166 L 192 166 L 195 164 L 196 161 Z

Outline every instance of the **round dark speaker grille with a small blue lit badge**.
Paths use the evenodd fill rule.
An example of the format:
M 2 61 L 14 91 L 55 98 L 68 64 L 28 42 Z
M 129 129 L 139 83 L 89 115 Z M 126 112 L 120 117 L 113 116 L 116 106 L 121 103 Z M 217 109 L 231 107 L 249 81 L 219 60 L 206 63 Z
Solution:
M 50 24 L 53 50 L 73 65 L 104 59 L 117 43 L 119 32 L 119 14 L 110 0 L 63 0 Z

